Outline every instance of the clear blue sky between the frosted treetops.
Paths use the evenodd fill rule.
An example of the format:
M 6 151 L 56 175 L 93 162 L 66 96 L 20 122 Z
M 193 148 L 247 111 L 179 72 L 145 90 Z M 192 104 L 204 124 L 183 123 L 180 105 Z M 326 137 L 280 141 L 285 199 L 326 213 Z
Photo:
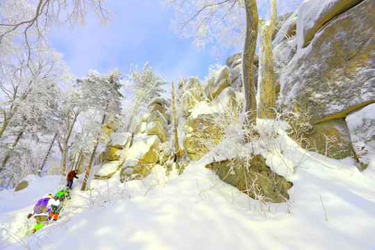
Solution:
M 53 47 L 63 53 L 63 60 L 77 78 L 85 77 L 89 69 L 108 74 L 117 67 L 129 74 L 131 63 L 142 69 L 149 61 L 156 74 L 176 83 L 178 73 L 203 79 L 210 65 L 225 65 L 226 58 L 217 62 L 209 47 L 197 50 L 191 39 L 180 38 L 170 30 L 174 10 L 163 8 L 160 1 L 108 0 L 105 5 L 117 17 L 109 27 L 99 25 L 90 14 L 87 26 L 62 27 L 50 35 Z

